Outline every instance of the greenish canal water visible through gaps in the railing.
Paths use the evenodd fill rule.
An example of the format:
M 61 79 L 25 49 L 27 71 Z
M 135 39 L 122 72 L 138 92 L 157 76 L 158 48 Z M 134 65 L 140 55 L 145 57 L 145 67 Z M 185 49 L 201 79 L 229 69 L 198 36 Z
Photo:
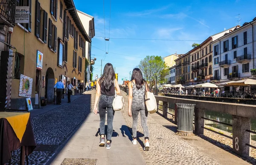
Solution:
M 168 112 L 171 114 L 174 114 L 174 109 L 168 108 Z M 212 112 L 212 111 L 206 111 L 205 115 L 206 118 L 208 119 L 213 119 L 219 122 L 224 122 L 227 124 L 232 124 L 232 115 L 230 114 L 224 114 L 224 113 L 219 113 L 219 112 Z M 227 131 L 229 133 L 232 133 L 232 127 L 224 124 L 220 124 L 217 122 L 212 122 L 209 120 L 204 120 L 205 125 L 209 125 L 214 128 L 218 128 L 222 131 Z M 251 119 L 251 130 L 256 131 L 256 119 Z M 256 134 L 251 135 L 251 139 L 256 141 Z

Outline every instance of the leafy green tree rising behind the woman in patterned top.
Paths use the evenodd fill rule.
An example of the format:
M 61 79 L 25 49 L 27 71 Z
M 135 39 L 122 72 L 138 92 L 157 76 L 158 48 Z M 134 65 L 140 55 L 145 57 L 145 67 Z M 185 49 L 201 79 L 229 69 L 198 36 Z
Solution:
M 149 88 L 154 86 L 155 80 L 158 83 L 166 83 L 166 75 L 169 69 L 163 58 L 160 56 L 147 56 L 140 61 L 138 68 L 141 69 L 144 79 L 149 83 Z

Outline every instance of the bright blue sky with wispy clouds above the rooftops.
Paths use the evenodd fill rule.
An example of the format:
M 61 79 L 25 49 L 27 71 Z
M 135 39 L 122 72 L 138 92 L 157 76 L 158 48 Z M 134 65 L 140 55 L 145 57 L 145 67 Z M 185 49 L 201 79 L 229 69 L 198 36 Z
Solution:
M 112 0 L 111 12 L 110 0 L 104 1 L 105 12 L 103 0 L 74 2 L 76 9 L 94 17 L 96 36 L 92 39 L 92 58 L 97 60 L 93 77 L 100 75 L 102 60 L 102 70 L 106 63 L 116 68 L 119 83 L 122 78 L 129 79 L 129 72 L 147 55 L 185 54 L 192 49 L 192 43 L 201 43 L 224 28 L 236 26 L 238 14 L 241 25 L 256 17 L 256 0 Z M 105 36 L 110 40 L 105 41 Z

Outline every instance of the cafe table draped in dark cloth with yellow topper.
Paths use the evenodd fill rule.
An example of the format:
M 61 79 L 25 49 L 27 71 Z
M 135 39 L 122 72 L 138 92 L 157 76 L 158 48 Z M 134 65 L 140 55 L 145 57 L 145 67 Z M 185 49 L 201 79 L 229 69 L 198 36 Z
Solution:
M 32 130 L 30 113 L 0 112 L 0 165 L 12 158 L 12 151 L 20 148 L 20 165 L 24 165 L 35 149 L 35 137 Z

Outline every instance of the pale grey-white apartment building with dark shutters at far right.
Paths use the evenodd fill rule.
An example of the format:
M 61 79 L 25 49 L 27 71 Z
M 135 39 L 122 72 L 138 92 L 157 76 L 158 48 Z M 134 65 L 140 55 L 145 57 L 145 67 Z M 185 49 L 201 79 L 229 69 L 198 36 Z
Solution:
M 213 76 L 220 82 L 253 78 L 255 69 L 256 17 L 249 23 L 236 26 L 224 34 L 213 46 Z

